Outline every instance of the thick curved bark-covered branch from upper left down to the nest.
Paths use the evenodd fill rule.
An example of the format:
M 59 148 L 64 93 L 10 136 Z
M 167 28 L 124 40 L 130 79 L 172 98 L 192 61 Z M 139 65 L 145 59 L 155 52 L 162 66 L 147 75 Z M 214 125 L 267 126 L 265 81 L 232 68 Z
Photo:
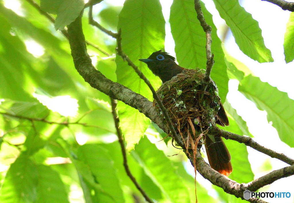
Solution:
M 109 80 L 94 68 L 91 63 L 91 58 L 87 53 L 81 16 L 68 26 L 68 33 L 71 55 L 74 59 L 75 68 L 87 83 L 111 98 L 120 100 L 136 108 L 139 112 L 145 114 L 146 117 L 156 123 L 161 129 L 169 133 L 168 126 L 164 123 L 163 119 L 158 116 L 156 108 L 151 101 L 127 87 Z

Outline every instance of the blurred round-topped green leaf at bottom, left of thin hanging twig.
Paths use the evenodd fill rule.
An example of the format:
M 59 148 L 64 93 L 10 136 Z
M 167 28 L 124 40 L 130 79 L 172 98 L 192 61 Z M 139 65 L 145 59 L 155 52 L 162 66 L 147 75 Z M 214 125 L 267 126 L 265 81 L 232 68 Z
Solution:
M 98 193 L 93 197 L 94 202 L 124 202 L 123 192 L 118 181 L 113 161 L 107 152 L 98 145 L 83 145 L 78 148 L 77 156 L 86 167 L 89 167 L 95 181 L 99 183 L 106 193 Z M 85 172 L 83 172 L 85 175 Z M 89 177 L 87 175 L 87 177 Z M 111 181 L 110 181 L 111 180 Z M 91 181 L 91 179 L 89 179 Z M 96 190 L 97 191 L 97 190 Z M 107 194 L 107 195 L 106 195 Z

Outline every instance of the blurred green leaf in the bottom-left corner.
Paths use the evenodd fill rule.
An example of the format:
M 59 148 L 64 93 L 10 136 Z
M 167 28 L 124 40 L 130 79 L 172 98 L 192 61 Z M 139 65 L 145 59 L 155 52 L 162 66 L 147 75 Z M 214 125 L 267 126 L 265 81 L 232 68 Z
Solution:
M 36 165 L 27 155 L 21 154 L 6 174 L 0 191 L 0 202 L 35 202 L 37 175 Z

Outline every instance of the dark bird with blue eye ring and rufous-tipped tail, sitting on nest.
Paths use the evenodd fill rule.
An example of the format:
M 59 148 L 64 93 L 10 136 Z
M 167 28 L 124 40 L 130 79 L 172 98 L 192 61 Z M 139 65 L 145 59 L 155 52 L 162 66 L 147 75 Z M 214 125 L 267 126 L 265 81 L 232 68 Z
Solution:
M 184 70 L 189 71 L 189 69 L 179 66 L 176 63 L 175 57 L 170 56 L 167 52 L 163 52 L 162 50 L 155 51 L 148 58 L 142 58 L 139 59 L 139 61 L 146 63 L 152 73 L 161 79 L 162 83 L 171 80 L 171 78 L 182 73 Z M 216 116 L 216 123 L 221 126 L 229 125 L 228 117 L 221 103 Z M 219 136 L 207 135 L 204 144 L 209 165 L 223 175 L 230 175 L 233 171 L 230 162 L 231 155 L 223 139 Z

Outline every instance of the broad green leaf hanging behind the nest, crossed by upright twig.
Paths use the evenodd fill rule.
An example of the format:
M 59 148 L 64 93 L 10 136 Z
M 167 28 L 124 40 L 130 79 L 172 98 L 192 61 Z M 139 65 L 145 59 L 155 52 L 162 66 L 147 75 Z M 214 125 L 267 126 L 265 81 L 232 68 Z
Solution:
M 216 27 L 212 21 L 212 15 L 206 10 L 201 2 L 203 15 L 207 24 L 212 27 L 211 50 L 214 54 L 214 66 L 211 72 L 211 78 L 218 86 L 219 95 L 222 101 L 225 101 L 228 93 L 227 67 L 224 61 L 224 53 L 221 47 L 221 41 L 216 34 Z M 171 33 L 175 40 L 175 51 L 177 61 L 183 68 L 202 68 L 206 69 L 206 37 L 197 14 L 193 0 L 174 0 L 171 6 Z

